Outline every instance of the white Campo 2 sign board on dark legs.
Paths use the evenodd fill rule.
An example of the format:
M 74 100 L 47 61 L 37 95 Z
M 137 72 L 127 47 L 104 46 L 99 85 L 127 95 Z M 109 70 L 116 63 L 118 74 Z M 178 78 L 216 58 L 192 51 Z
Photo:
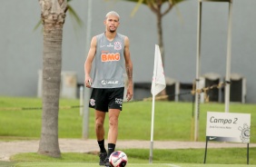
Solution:
M 250 142 L 250 113 L 207 112 L 206 140 Z

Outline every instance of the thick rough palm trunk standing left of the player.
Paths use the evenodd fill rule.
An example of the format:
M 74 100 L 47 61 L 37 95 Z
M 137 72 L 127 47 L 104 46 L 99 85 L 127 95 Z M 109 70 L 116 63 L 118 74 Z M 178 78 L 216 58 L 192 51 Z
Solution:
M 66 0 L 39 0 L 44 25 L 43 113 L 39 154 L 60 157 L 58 111 Z

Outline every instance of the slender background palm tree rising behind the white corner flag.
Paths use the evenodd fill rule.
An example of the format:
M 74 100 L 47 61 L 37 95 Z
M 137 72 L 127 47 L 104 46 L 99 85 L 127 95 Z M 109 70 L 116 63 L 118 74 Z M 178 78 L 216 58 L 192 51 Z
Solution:
M 130 2 L 136 2 L 137 5 L 133 9 L 132 15 L 138 10 L 139 5 L 148 5 L 148 7 L 153 11 L 153 14 L 156 15 L 157 22 L 157 34 L 158 34 L 158 44 L 162 55 L 162 64 L 164 64 L 164 49 L 163 49 L 163 38 L 162 38 L 162 17 L 167 15 L 174 5 L 177 5 L 185 0 L 124 0 Z M 164 3 L 168 4 L 168 7 L 162 11 L 162 5 Z

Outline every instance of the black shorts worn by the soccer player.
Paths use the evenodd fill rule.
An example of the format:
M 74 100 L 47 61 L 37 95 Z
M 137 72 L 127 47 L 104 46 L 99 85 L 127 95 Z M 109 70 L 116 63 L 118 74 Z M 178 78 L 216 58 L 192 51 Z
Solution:
M 124 87 L 93 88 L 89 107 L 98 111 L 108 112 L 108 109 L 122 111 Z

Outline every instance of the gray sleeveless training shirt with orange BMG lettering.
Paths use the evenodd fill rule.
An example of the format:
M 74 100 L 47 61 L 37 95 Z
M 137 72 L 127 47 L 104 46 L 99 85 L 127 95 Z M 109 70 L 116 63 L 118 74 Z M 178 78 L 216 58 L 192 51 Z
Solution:
M 94 88 L 123 87 L 124 68 L 124 36 L 116 34 L 109 41 L 105 34 L 96 36 L 97 46 L 94 57 L 93 83 Z

